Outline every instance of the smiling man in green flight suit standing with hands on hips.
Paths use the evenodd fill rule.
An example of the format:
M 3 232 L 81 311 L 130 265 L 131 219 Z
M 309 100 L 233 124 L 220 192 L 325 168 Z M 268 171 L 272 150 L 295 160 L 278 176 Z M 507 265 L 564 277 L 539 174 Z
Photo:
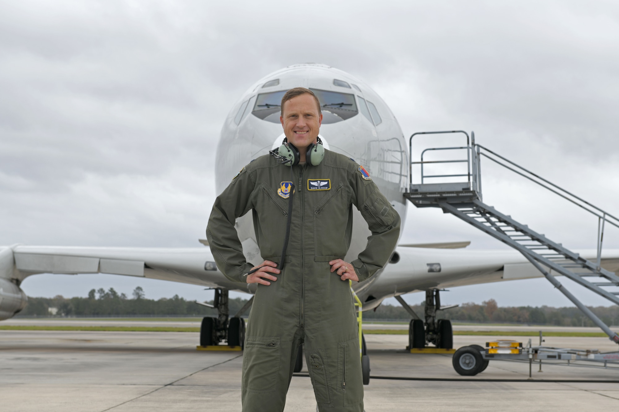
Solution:
M 287 143 L 280 158 L 267 154 L 246 165 L 215 200 L 206 230 L 225 277 L 258 283 L 243 354 L 243 411 L 284 410 L 303 343 L 319 410 L 361 412 L 357 320 L 348 280 L 364 281 L 386 264 L 400 217 L 363 166 L 322 148 L 322 113 L 314 93 L 288 90 L 281 108 Z M 282 156 L 292 161 L 282 164 Z M 348 263 L 343 259 L 350 246 L 352 205 L 371 236 L 358 259 Z M 246 262 L 234 227 L 249 210 L 264 259 L 257 266 Z

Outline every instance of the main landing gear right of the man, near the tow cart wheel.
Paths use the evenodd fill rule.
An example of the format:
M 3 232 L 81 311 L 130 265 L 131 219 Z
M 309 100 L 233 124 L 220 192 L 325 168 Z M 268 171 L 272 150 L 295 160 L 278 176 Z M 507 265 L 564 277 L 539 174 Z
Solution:
M 424 320 L 413 312 L 413 309 L 402 299 L 396 296 L 397 301 L 413 317 L 409 324 L 409 346 L 407 350 L 423 349 L 428 343 L 433 343 L 436 348 L 452 349 L 454 346 L 454 334 L 451 329 L 451 320 L 436 319 L 436 312 L 454 306 L 441 307 L 439 290 L 426 290 L 424 307 Z

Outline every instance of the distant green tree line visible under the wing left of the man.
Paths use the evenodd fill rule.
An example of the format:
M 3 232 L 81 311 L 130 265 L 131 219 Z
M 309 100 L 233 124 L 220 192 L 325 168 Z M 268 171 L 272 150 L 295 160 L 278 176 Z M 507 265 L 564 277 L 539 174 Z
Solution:
M 71 316 L 137 316 L 137 315 L 217 315 L 217 309 L 196 304 L 175 294 L 172 298 L 146 299 L 138 286 L 132 293 L 118 294 L 114 288 L 91 290 L 87 298 L 30 298 L 25 309 L 17 316 L 71 317 Z M 247 299 L 230 299 L 230 315 L 234 315 Z M 212 301 L 207 301 L 212 304 Z

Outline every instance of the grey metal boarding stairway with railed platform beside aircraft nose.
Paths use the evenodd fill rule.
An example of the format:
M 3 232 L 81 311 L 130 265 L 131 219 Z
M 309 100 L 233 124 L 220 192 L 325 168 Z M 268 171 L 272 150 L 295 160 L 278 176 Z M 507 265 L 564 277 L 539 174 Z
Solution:
M 602 243 L 604 240 L 605 224 L 619 228 L 619 219 L 605 212 L 604 210 L 592 205 L 584 199 L 556 186 L 550 181 L 541 178 L 522 166 L 517 165 L 511 160 L 498 155 L 482 145 L 475 144 L 475 134 L 467 134 L 464 131 L 444 131 L 444 132 L 418 132 L 411 135 L 409 140 L 410 159 L 412 160 L 412 141 L 413 137 L 428 134 L 464 134 L 467 144 L 457 147 L 432 147 L 425 148 L 421 152 L 420 161 L 410 162 L 410 187 L 404 196 L 416 207 L 439 207 L 444 213 L 464 220 L 479 230 L 490 234 L 494 238 L 508 244 L 517 251 L 521 252 L 535 268 L 537 268 L 555 288 L 565 294 L 584 314 L 589 317 L 597 326 L 607 333 L 610 340 L 619 343 L 619 335 L 610 330 L 591 310 L 582 304 L 573 294 L 566 290 L 565 286 L 556 280 L 555 275 L 563 275 L 581 286 L 599 294 L 614 304 L 619 305 L 619 277 L 615 273 L 601 267 Z M 441 151 L 441 152 L 438 152 Z M 438 160 L 427 160 L 428 155 L 439 153 L 459 153 L 455 160 L 439 158 Z M 466 158 L 461 157 L 461 153 L 466 153 Z M 426 160 L 424 160 L 426 157 Z M 436 157 L 436 156 L 435 156 Z M 496 210 L 483 203 L 482 198 L 482 179 L 481 179 L 481 158 L 485 157 L 497 165 L 503 166 L 520 176 L 535 182 L 539 186 L 559 195 L 565 200 L 577 205 L 589 213 L 597 216 L 597 259 L 595 262 L 584 259 L 579 254 L 570 251 L 560 243 L 548 239 L 545 235 L 531 230 L 529 226 L 523 225 L 514 220 L 509 215 Z M 464 167 L 466 169 L 464 170 Z M 413 166 L 421 170 L 421 183 L 413 184 Z M 425 166 L 425 167 L 424 167 Z M 436 166 L 441 168 L 440 174 L 425 174 L 428 166 L 436 170 Z M 441 179 L 459 179 L 460 182 L 428 182 Z

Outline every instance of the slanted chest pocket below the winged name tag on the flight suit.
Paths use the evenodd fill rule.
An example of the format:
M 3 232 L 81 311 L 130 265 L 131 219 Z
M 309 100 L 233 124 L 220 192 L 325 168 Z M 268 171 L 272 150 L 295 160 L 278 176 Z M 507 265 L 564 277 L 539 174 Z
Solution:
M 309 194 L 311 195 L 311 194 Z M 316 255 L 344 256 L 350 246 L 352 213 L 344 184 L 332 187 L 331 193 L 314 207 L 314 250 Z

